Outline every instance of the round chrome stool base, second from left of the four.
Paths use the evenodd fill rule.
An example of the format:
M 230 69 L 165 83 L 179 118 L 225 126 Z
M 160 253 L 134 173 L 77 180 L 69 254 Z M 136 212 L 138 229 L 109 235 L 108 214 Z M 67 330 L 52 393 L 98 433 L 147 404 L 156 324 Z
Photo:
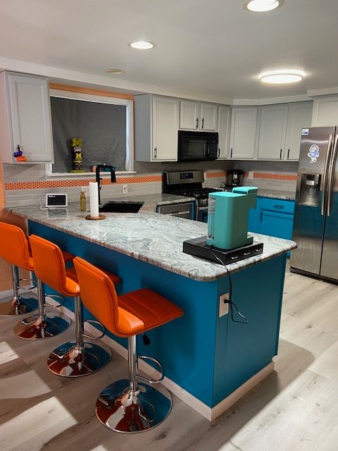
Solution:
M 70 326 L 70 319 L 61 313 L 49 313 L 46 316 L 28 316 L 18 323 L 14 333 L 24 340 L 42 340 L 63 333 Z

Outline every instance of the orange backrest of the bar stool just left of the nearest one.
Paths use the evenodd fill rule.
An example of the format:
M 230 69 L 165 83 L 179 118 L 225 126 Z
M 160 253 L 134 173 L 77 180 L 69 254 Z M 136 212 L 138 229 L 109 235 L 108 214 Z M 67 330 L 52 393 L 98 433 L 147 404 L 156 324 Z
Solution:
M 49 287 L 67 295 L 65 293 L 67 283 L 65 260 L 60 247 L 37 235 L 30 235 L 30 246 L 37 277 Z

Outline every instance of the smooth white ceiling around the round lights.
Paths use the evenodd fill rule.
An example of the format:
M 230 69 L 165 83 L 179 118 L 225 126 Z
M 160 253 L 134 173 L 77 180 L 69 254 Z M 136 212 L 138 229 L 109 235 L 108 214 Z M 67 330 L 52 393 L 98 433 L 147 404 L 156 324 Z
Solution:
M 123 80 L 215 99 L 294 96 L 338 85 L 337 0 L 284 0 L 268 13 L 244 11 L 243 3 L 1 0 L 0 56 L 104 77 L 108 85 Z M 127 46 L 138 39 L 157 47 Z M 106 68 L 125 74 L 108 75 Z M 259 73 L 279 68 L 307 75 L 284 87 L 259 82 Z

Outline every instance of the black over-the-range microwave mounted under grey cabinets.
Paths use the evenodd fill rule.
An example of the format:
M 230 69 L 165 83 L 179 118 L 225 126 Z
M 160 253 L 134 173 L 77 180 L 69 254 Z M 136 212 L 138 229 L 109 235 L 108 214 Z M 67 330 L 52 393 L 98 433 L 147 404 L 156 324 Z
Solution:
M 218 156 L 218 133 L 178 131 L 178 161 L 215 160 Z

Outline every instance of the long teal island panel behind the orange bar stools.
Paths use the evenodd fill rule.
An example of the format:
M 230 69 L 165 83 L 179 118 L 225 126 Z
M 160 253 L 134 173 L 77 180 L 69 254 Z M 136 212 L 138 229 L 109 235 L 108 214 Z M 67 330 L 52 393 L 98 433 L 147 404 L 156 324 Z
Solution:
M 144 346 L 142 338 L 139 338 L 138 352 L 158 359 L 164 366 L 165 376 L 212 407 L 217 281 L 198 282 L 185 278 L 34 221 L 29 221 L 29 230 L 120 276 L 123 282 L 117 287 L 118 294 L 150 288 L 180 306 L 184 316 L 147 332 L 151 340 L 149 346 Z M 46 292 L 53 290 L 47 288 Z M 73 311 L 73 299 L 66 299 L 65 307 Z M 85 318 L 92 316 L 85 312 Z M 127 340 L 109 335 L 127 347 Z

